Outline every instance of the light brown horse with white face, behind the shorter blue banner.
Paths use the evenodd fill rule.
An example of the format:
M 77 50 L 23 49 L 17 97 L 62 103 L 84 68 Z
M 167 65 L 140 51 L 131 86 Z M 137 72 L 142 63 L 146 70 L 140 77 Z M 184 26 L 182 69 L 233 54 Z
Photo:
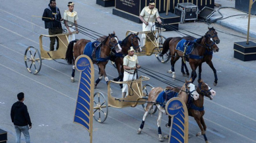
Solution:
M 164 91 L 164 89 L 160 88 L 160 87 L 152 88 L 151 92 L 148 94 L 148 103 L 146 105 L 146 111 L 143 115 L 143 122 L 141 123 L 141 126 L 139 127 L 139 129 L 137 131 L 138 134 L 141 134 L 141 130 L 143 130 L 144 122 L 145 122 L 146 116 L 148 115 L 148 111 L 150 111 L 150 109 L 152 108 L 154 103 L 156 103 L 156 99 L 158 98 L 158 95 L 162 91 Z M 186 80 L 185 84 L 183 84 L 183 86 L 181 87 L 181 89 L 179 91 L 178 97 L 181 98 L 185 103 L 187 103 L 189 96 L 193 97 L 194 100 L 197 100 L 199 98 L 199 94 L 195 90 L 195 85 L 192 84 L 191 81 Z M 163 138 L 162 138 L 162 130 L 160 127 L 160 123 L 161 123 L 162 114 L 165 113 L 166 111 L 165 111 L 164 107 L 162 107 L 160 105 L 160 103 L 156 103 L 156 106 L 158 107 L 158 110 L 159 110 L 158 121 L 157 121 L 158 137 L 159 137 L 160 142 L 162 142 Z

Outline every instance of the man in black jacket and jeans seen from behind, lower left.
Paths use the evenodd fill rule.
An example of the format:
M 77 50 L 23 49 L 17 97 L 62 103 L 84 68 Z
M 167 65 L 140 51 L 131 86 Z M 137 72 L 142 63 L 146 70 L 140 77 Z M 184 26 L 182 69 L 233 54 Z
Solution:
M 28 128 L 32 128 L 32 123 L 30 121 L 30 116 L 28 114 L 28 108 L 23 103 L 24 93 L 20 92 L 17 95 L 17 98 L 18 101 L 16 101 L 16 103 L 13 104 L 11 109 L 11 119 L 13 124 L 15 125 L 16 131 L 16 143 L 20 143 L 21 132 L 23 133 L 26 139 L 26 143 L 30 143 Z

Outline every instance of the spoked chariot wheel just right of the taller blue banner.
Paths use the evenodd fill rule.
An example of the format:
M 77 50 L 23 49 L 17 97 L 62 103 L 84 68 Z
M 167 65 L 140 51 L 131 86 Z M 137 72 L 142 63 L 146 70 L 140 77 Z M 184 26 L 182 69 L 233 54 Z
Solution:
M 101 92 L 94 94 L 93 117 L 98 123 L 103 123 L 108 117 L 108 101 Z

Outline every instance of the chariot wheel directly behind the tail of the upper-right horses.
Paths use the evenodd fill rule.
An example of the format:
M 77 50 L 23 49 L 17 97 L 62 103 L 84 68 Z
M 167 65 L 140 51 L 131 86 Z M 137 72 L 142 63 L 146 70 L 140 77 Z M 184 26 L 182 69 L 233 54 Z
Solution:
M 160 53 L 162 53 L 163 50 L 163 45 L 164 42 L 166 41 L 166 38 L 164 36 L 158 36 L 157 38 L 157 43 L 158 43 L 158 47 L 157 47 L 157 51 L 158 53 L 155 53 L 154 55 L 156 55 L 156 59 L 158 59 L 158 61 L 160 61 L 161 63 L 166 63 L 170 60 L 171 56 L 170 56 L 170 49 L 168 49 L 167 53 L 165 53 L 162 57 L 160 57 Z

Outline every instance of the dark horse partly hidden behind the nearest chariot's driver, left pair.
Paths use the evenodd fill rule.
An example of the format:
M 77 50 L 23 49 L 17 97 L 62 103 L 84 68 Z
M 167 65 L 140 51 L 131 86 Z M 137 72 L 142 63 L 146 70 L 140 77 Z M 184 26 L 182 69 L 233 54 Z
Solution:
M 115 67 L 117 68 L 117 72 L 119 74 L 119 76 L 117 78 L 114 78 L 114 81 L 123 81 L 123 57 L 125 57 L 125 55 L 128 55 L 128 50 L 130 49 L 130 47 L 133 47 L 133 49 L 135 49 L 135 51 L 141 52 L 141 45 L 140 45 L 140 38 L 138 37 L 139 32 L 137 32 L 137 34 L 129 34 L 128 36 L 126 36 L 126 38 L 121 41 L 120 45 L 122 48 L 122 51 L 120 53 L 116 53 L 115 51 L 113 51 L 113 55 L 110 55 L 110 60 L 115 62 Z M 104 39 L 106 38 L 105 36 L 103 36 L 102 38 L 98 38 L 97 41 L 102 42 Z M 121 88 L 123 88 L 123 84 L 119 84 Z

